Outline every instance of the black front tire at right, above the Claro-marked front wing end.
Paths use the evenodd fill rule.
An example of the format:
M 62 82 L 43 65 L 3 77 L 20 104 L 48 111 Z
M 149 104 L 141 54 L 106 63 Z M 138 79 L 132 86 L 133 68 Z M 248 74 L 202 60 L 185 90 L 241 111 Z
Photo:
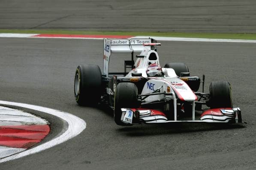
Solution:
M 232 88 L 229 82 L 211 82 L 209 92 L 210 108 L 232 108 Z

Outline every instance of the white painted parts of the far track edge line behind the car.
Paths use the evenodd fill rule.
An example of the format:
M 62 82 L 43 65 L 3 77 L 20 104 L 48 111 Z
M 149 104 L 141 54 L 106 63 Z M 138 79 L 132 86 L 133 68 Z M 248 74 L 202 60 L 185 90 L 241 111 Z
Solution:
M 63 38 L 63 39 L 96 39 L 103 38 L 85 38 L 85 37 L 34 37 L 40 34 L 19 34 L 19 33 L 0 33 L 0 37 L 12 37 L 12 38 Z M 135 36 L 131 38 L 154 38 L 158 41 L 194 41 L 194 42 L 235 42 L 235 43 L 256 43 L 256 40 L 241 40 L 241 39 L 221 39 L 221 38 L 181 38 L 181 37 L 159 37 L 159 36 Z M 130 39 L 130 38 L 129 38 Z

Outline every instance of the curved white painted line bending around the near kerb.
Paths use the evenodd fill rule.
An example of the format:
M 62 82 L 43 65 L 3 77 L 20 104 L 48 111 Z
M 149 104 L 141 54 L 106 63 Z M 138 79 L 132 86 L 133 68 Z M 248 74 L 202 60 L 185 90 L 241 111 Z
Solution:
M 27 149 L 24 152 L 19 152 L 17 154 L 8 156 L 6 158 L 2 158 L 2 159 L 0 159 L 0 163 L 10 161 L 13 159 L 17 159 L 17 158 L 21 158 L 23 156 L 27 156 L 27 155 L 48 149 L 50 147 L 54 147 L 57 144 L 61 144 L 64 141 L 67 141 L 70 138 L 75 137 L 76 135 L 80 134 L 86 128 L 86 123 L 84 122 L 84 120 L 82 120 L 79 117 L 76 117 L 72 114 L 66 113 L 66 112 L 54 110 L 51 108 L 45 108 L 45 107 L 41 107 L 41 106 L 34 106 L 34 105 L 29 105 L 29 104 L 24 104 L 24 103 L 7 102 L 7 101 L 2 101 L 2 100 L 0 100 L 0 104 L 18 106 L 18 107 L 23 107 L 23 108 L 29 108 L 29 109 L 36 110 L 36 111 L 45 112 L 45 113 L 57 116 L 57 117 L 65 120 L 68 123 L 68 128 L 65 132 L 63 132 L 63 134 L 61 134 L 61 135 L 53 138 L 51 141 L 48 141 L 48 142 L 41 144 L 37 147 Z

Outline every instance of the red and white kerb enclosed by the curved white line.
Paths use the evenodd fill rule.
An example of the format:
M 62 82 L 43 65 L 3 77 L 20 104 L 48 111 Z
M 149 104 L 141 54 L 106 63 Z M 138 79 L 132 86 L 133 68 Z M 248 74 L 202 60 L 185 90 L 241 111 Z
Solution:
M 40 117 L 0 106 L 0 158 L 24 151 L 42 141 L 50 132 Z

